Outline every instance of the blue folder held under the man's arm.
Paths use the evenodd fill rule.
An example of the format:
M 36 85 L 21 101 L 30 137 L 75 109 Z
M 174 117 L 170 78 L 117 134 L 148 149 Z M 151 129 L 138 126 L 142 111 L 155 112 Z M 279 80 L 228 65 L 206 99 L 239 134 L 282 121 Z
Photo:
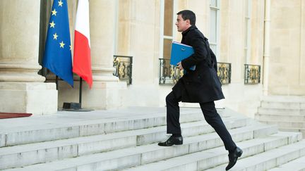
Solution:
M 189 58 L 194 53 L 193 47 L 181 44 L 178 42 L 172 42 L 172 51 L 171 51 L 171 65 L 177 65 L 180 61 L 184 60 L 185 58 Z M 192 66 L 189 68 L 190 70 L 195 70 L 196 66 Z

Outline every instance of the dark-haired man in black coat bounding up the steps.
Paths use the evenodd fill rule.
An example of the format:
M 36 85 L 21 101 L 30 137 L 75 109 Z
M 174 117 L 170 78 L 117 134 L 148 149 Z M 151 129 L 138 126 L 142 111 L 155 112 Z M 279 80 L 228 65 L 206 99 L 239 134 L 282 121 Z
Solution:
M 210 49 L 208 39 L 197 29 L 196 15 L 192 11 L 184 10 L 177 13 L 177 29 L 182 32 L 182 44 L 193 47 L 194 53 L 177 63 L 181 70 L 186 73 L 172 88 L 166 97 L 167 103 L 167 134 L 172 134 L 159 146 L 172 146 L 183 144 L 181 127 L 179 122 L 179 101 L 199 103 L 205 120 L 220 136 L 225 148 L 229 151 L 229 170 L 241 156 L 241 149 L 236 146 L 231 135 L 227 131 L 220 115 L 215 109 L 214 101 L 225 99 L 222 94 L 221 83 L 217 77 L 216 56 Z M 189 70 L 196 65 L 195 70 Z

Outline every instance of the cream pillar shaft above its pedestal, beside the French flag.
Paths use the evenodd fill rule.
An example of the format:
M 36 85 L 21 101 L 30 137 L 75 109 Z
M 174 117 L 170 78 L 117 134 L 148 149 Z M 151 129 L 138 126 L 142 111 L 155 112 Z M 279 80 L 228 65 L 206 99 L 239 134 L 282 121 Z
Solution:
M 92 74 L 95 81 L 119 82 L 119 78 L 112 75 L 115 34 L 116 1 L 91 0 L 90 38 Z

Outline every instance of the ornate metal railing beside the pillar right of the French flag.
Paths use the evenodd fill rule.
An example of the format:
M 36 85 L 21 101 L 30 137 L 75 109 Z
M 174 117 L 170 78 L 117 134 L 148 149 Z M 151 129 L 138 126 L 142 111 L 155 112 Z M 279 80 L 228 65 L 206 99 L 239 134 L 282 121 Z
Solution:
M 120 81 L 126 81 L 127 84 L 132 83 L 132 56 L 116 56 L 114 55 L 113 66 L 116 69 L 114 76 L 119 77 Z

